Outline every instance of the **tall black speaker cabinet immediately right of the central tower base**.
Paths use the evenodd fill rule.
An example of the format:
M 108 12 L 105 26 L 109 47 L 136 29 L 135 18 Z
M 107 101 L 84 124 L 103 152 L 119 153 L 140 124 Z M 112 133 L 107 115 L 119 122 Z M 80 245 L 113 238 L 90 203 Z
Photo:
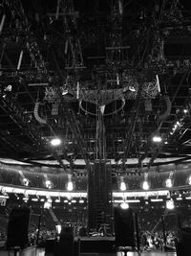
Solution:
M 134 216 L 131 208 L 114 209 L 116 246 L 135 246 Z

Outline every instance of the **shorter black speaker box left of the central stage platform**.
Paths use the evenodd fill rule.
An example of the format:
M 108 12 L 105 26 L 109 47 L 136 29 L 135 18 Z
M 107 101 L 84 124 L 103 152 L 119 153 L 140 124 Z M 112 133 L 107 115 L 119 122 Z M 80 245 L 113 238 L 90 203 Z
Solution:
M 72 227 L 62 228 L 57 248 L 58 256 L 74 255 L 74 233 Z

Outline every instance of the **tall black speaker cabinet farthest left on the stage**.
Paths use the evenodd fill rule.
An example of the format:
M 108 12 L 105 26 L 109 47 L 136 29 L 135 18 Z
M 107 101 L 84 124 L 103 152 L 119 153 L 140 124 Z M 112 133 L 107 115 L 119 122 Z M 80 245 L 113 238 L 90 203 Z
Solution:
M 24 248 L 28 245 L 28 228 L 30 221 L 29 208 L 14 208 L 11 210 L 7 230 L 7 248 L 15 246 Z

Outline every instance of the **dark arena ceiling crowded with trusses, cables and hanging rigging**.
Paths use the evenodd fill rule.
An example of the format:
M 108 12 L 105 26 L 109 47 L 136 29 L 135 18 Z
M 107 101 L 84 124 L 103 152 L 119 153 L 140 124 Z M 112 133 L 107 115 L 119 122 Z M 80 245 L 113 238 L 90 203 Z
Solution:
M 1 158 L 190 159 L 191 6 L 144 2 L 3 0 Z

